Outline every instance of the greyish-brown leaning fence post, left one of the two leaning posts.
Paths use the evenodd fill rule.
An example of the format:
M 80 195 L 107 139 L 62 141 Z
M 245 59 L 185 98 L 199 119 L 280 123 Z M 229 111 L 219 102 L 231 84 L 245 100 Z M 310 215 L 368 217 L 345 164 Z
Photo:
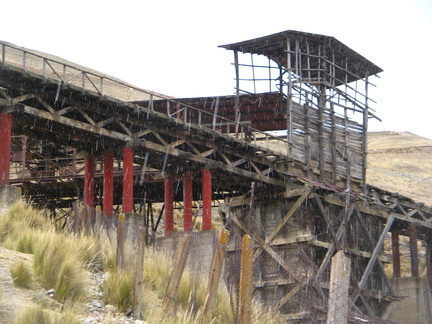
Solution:
M 171 277 L 168 281 L 167 288 L 165 290 L 165 297 L 162 302 L 162 309 L 169 310 L 174 309 L 175 300 L 177 298 L 178 289 L 180 286 L 180 280 L 183 275 L 184 268 L 186 266 L 186 260 L 189 255 L 191 236 L 185 235 L 180 245 L 180 249 L 177 255 L 176 262 L 171 272 Z

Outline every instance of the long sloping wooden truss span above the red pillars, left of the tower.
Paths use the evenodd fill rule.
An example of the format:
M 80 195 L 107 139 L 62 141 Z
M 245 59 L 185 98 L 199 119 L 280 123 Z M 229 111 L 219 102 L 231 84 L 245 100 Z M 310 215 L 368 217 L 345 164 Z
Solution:
M 13 66 L 3 68 L 0 86 L 1 111 L 14 115 L 17 132 L 66 141 L 94 154 L 131 146 L 138 152 L 154 152 L 151 166 L 157 169 L 164 167 L 168 156 L 177 167 L 191 163 L 285 187 L 286 156 L 207 127 L 205 120 L 217 117 L 204 111 L 195 111 L 196 121 L 179 119 L 154 111 L 151 103 L 143 107 L 101 97 Z

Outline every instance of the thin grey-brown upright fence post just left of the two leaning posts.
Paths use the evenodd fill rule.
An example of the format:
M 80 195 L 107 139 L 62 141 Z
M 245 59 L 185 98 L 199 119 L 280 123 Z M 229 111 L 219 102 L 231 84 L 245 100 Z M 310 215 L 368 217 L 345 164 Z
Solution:
M 135 281 L 134 281 L 134 318 L 142 319 L 142 287 L 143 287 L 143 268 L 144 268 L 144 245 L 146 230 L 143 227 L 138 231 L 138 251 L 136 256 Z

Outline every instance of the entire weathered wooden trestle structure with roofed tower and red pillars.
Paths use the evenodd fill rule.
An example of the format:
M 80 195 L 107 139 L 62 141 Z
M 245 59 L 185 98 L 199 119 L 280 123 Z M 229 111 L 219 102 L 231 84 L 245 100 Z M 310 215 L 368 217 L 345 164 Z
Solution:
M 411 242 L 412 276 L 424 242 L 432 283 L 432 209 L 367 185 L 368 119 L 377 118 L 369 89 L 382 70 L 333 37 L 303 32 L 221 47 L 234 53 L 236 93 L 178 99 L 0 42 L 1 184 L 53 208 L 101 205 L 108 216 L 136 211 L 146 192 L 164 202 L 165 235 L 175 202 L 189 232 L 193 201 L 208 230 L 225 199 L 227 226 L 270 260 L 255 285 L 263 300 L 291 320 L 322 320 L 330 258 L 342 249 L 353 260 L 354 309 L 387 318 L 399 298 L 384 264 L 401 276 L 399 235 Z M 303 272 L 293 267 L 306 263 L 285 260 L 293 247 L 311 261 Z M 300 305 L 312 290 L 315 306 Z

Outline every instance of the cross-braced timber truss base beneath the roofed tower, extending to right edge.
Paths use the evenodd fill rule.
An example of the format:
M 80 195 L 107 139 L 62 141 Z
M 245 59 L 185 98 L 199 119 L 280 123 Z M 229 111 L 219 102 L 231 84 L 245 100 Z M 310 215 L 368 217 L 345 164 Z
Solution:
M 226 203 L 229 207 L 228 219 L 235 224 L 234 235 L 238 235 L 240 229 L 241 233 L 247 233 L 254 239 L 255 260 L 265 253 L 284 270 L 278 272 L 277 279 L 273 277 L 271 280 L 263 281 L 261 275 L 256 278 L 257 292 L 270 287 L 276 289 L 275 291 L 283 291 L 283 298 L 280 297 L 281 293 L 275 293 L 278 297 L 274 303 L 270 302 L 275 310 L 281 310 L 284 305 L 288 307 L 292 302 L 298 303 L 299 300 L 303 300 L 306 287 L 309 287 L 308 294 L 314 291 L 313 294 L 318 296 L 325 308 L 330 261 L 336 251 L 345 248 L 345 253 L 353 263 L 350 289 L 352 314 L 358 315 L 361 310 L 366 316 L 373 318 L 385 319 L 389 315 L 392 302 L 400 300 L 400 297 L 396 295 L 385 269 L 385 263 L 390 260 L 383 254 L 384 241 L 389 239 L 389 233 L 395 226 L 409 228 L 412 224 L 415 224 L 419 237 L 426 238 L 426 235 L 431 234 L 432 210 L 376 188 L 369 188 L 369 191 L 368 197 L 359 199 L 358 196 L 351 196 L 350 202 L 346 199 L 346 193 L 323 190 L 311 184 L 305 185 L 303 189 L 285 194 L 288 203 L 280 203 L 283 197 L 279 197 L 279 202 L 274 201 L 274 204 L 280 205 L 278 206 L 283 210 L 283 214 L 280 215 L 277 224 L 270 228 L 266 224 L 266 219 L 259 215 L 264 213 L 266 217 L 273 217 L 262 207 L 268 204 L 266 199 L 243 197 L 233 198 Z M 256 206 L 252 207 L 251 201 L 256 201 Z M 257 211 L 252 213 L 250 210 L 253 208 Z M 254 216 L 255 213 L 258 215 Z M 249 214 L 254 217 L 245 216 Z M 305 218 L 310 218 L 309 224 L 301 228 L 299 223 L 304 223 Z M 259 225 L 253 225 L 254 223 Z M 262 234 L 259 235 L 257 233 L 260 231 L 254 228 L 268 230 L 261 231 Z M 298 236 L 297 233 L 304 234 L 304 231 L 308 232 L 308 235 Z M 344 247 L 345 234 L 348 239 Z M 292 263 L 286 248 L 298 244 L 306 254 L 309 254 L 315 267 L 298 271 L 298 268 L 304 265 Z M 235 250 L 234 247 L 231 249 Z M 296 257 L 291 255 L 291 258 Z M 259 271 L 270 271 L 266 266 Z M 298 312 L 301 310 L 303 319 L 310 318 L 313 310 L 299 310 L 298 304 L 296 305 L 294 313 L 287 313 L 289 307 L 284 313 L 287 313 L 290 319 L 299 319 Z M 323 309 L 322 311 L 325 312 Z

